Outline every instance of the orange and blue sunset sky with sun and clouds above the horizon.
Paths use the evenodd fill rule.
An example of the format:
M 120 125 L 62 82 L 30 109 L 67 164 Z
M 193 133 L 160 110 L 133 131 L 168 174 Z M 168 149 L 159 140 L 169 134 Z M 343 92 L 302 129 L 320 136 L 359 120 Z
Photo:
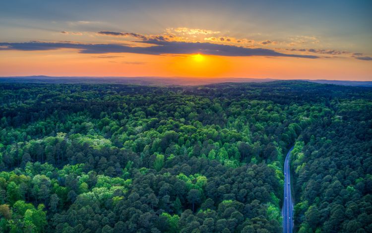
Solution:
M 0 76 L 372 81 L 372 1 L 12 0 Z

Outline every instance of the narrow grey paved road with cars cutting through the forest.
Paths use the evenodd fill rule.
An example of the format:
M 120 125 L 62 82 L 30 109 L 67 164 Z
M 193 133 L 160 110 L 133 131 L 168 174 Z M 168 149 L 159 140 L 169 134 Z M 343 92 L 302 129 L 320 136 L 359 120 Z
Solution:
M 284 203 L 282 210 L 284 233 L 292 233 L 293 230 L 293 201 L 291 195 L 291 175 L 289 170 L 289 158 L 291 157 L 292 149 L 293 147 L 288 151 L 284 162 Z

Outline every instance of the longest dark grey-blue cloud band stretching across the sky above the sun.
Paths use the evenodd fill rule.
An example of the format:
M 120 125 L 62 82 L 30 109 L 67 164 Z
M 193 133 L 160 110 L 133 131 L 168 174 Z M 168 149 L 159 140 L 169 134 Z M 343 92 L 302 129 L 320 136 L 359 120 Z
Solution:
M 161 40 L 145 40 L 140 43 L 150 44 L 149 47 L 132 47 L 122 44 L 76 44 L 76 43 L 0 43 L 0 50 L 48 51 L 57 49 L 76 49 L 82 54 L 134 53 L 148 55 L 164 54 L 204 54 L 230 57 L 269 56 L 293 58 L 318 58 L 310 55 L 283 54 L 261 48 L 244 48 L 231 45 L 220 45 L 200 42 L 169 42 Z

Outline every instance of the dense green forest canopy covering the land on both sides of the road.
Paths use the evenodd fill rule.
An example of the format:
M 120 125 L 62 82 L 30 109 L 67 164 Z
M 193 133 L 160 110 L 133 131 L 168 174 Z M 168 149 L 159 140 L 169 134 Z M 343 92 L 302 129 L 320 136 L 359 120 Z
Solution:
M 368 232 L 371 93 L 1 84 L 0 230 L 280 232 L 283 154 L 297 142 L 300 231 Z

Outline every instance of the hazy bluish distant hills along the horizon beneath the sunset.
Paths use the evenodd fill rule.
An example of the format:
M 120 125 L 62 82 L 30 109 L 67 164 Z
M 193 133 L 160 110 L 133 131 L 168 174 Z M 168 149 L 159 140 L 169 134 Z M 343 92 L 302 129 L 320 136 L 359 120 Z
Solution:
M 206 85 L 226 82 L 270 82 L 281 79 L 272 78 L 190 78 L 190 77 L 54 77 L 54 76 L 13 76 L 0 77 L 0 83 L 108 83 L 108 84 L 139 84 L 139 85 Z M 309 80 L 298 79 L 322 84 L 335 84 L 343 86 L 372 87 L 372 81 L 342 81 L 342 80 Z

